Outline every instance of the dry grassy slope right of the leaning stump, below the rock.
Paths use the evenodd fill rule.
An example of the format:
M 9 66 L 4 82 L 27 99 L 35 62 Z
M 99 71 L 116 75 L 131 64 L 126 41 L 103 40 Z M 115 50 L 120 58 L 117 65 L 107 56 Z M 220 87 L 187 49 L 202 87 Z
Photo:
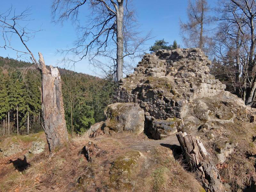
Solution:
M 256 154 L 252 143 L 252 135 L 256 134 L 255 127 L 253 124 L 238 120 L 221 126 L 223 129 L 212 130 L 215 137 L 211 141 L 207 140 L 204 135 L 200 136 L 204 139 L 207 151 L 213 157 L 213 163 L 217 164 L 221 179 L 228 183 L 233 191 L 243 190 L 246 186 L 250 186 L 255 178 L 256 158 L 248 158 L 248 154 Z M 238 143 L 238 145 L 223 164 L 218 164 L 216 148 L 223 148 L 226 142 Z

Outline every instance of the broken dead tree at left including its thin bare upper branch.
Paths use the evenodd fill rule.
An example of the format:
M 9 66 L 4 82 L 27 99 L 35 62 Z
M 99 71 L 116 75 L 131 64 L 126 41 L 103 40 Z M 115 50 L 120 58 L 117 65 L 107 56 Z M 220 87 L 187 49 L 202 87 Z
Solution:
M 11 49 L 17 53 L 17 57 L 23 57 L 32 62 L 32 66 L 28 69 L 39 70 L 42 76 L 42 111 L 43 111 L 43 127 L 50 152 L 57 146 L 67 142 L 67 127 L 64 116 L 64 106 L 61 92 L 60 73 L 57 68 L 50 66 L 48 70 L 44 63 L 43 55 L 39 52 L 39 61 L 36 60 L 34 54 L 27 46 L 29 39 L 34 37 L 36 31 L 29 30 L 21 24 L 29 21 L 30 9 L 26 9 L 20 14 L 16 14 L 15 10 L 10 8 L 8 11 L 0 14 L 0 29 L 4 44 L 1 48 Z M 13 16 L 11 16 L 13 15 Z M 26 26 L 24 24 L 24 26 Z M 17 50 L 12 46 L 13 36 L 18 37 L 24 46 L 24 51 Z

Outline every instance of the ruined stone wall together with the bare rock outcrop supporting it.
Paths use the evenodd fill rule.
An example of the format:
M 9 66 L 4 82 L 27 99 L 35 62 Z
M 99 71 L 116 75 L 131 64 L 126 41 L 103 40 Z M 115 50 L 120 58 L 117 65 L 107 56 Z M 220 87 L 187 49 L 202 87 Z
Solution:
M 247 121 L 253 109 L 224 90 L 226 85 L 209 73 L 210 64 L 200 49 L 146 54 L 134 73 L 120 80 L 115 100 L 138 103 L 145 111 L 145 129 L 154 139 L 175 133 L 176 129 L 208 132 L 214 124 L 233 123 L 237 116 Z M 168 118 L 181 122 L 173 124 L 172 129 L 166 126 L 168 122 L 165 128 L 163 123 L 155 123 L 155 119 Z M 168 129 L 171 131 L 166 134 Z

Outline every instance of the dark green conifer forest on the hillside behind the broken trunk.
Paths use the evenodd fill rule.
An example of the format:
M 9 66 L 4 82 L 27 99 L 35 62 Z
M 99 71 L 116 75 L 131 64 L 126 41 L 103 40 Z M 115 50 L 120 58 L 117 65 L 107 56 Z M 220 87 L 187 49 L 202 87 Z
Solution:
M 26 133 L 28 126 L 29 132 L 42 130 L 41 75 L 33 69 L 24 70 L 29 66 L 28 62 L 0 57 L 0 134 L 8 133 L 8 113 L 10 133 L 17 133 L 17 129 Z M 111 80 L 58 69 L 63 81 L 68 131 L 71 133 L 73 127 L 75 133 L 84 132 L 91 124 L 104 118 L 103 109 L 111 102 Z

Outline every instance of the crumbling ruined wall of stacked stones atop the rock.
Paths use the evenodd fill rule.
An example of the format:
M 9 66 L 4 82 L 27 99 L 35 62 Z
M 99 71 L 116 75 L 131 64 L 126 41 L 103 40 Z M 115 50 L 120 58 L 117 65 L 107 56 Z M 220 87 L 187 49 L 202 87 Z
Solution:
M 133 74 L 119 81 L 115 101 L 139 103 L 149 121 L 183 118 L 190 100 L 212 97 L 226 88 L 209 74 L 209 65 L 200 49 L 146 54 Z

